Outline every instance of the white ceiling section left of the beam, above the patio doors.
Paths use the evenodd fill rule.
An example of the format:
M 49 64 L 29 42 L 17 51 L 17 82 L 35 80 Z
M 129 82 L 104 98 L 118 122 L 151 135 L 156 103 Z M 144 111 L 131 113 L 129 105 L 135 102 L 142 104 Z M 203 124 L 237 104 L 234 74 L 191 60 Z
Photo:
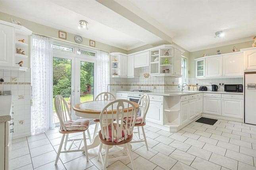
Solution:
M 0 11 L 125 50 L 162 41 L 94 0 L 1 0 Z M 77 28 L 81 19 L 89 30 Z

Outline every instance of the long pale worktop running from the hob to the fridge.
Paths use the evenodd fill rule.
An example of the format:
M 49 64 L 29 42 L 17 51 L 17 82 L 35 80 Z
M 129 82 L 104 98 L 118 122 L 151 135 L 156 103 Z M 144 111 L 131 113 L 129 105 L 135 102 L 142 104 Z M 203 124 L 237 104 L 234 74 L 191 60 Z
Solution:
M 134 92 L 134 91 L 116 91 L 119 93 L 139 93 L 143 94 L 145 92 Z M 185 96 L 189 94 L 198 94 L 198 93 L 221 93 L 221 94 L 243 94 L 243 93 L 233 93 L 225 91 L 170 91 L 170 92 L 146 92 L 146 94 L 158 95 L 158 96 Z

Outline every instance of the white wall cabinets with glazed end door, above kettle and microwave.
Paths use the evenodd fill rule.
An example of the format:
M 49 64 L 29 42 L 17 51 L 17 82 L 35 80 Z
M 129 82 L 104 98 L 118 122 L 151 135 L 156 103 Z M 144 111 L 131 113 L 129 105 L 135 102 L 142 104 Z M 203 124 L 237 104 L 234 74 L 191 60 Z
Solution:
M 196 78 L 243 77 L 243 52 L 195 59 Z

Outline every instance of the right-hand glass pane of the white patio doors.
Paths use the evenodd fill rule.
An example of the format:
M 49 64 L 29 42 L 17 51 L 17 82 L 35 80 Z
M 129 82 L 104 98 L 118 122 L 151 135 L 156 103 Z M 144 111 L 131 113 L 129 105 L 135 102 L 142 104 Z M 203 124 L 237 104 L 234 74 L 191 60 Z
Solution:
M 94 100 L 94 63 L 80 61 L 80 102 Z

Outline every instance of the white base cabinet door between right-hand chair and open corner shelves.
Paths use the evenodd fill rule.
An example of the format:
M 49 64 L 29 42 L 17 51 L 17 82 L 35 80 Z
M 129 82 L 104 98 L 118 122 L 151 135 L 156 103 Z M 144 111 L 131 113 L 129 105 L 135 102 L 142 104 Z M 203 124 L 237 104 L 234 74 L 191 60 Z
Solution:
M 150 101 L 146 120 L 159 125 L 164 125 L 163 102 Z

